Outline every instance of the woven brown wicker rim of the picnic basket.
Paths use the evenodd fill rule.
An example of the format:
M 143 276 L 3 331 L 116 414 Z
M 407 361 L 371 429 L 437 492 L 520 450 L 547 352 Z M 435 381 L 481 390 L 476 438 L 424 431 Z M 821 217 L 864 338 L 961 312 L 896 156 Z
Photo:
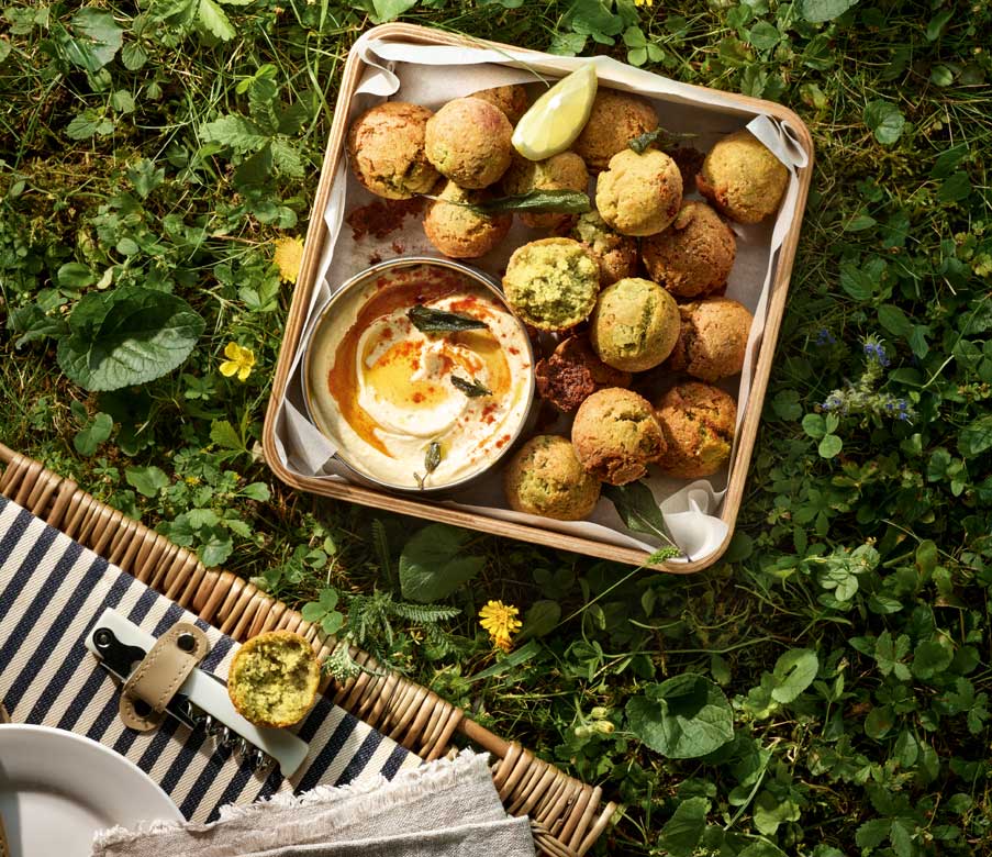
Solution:
M 105 557 L 204 622 L 237 641 L 288 628 L 305 636 L 323 660 L 335 641 L 294 610 L 230 571 L 208 570 L 196 554 L 170 543 L 75 482 L 0 444 L 0 494 Z M 492 776 L 508 812 L 530 815 L 538 853 L 586 854 L 606 828 L 616 804 L 602 790 L 568 777 L 520 744 L 504 741 L 420 685 L 378 667 L 364 652 L 353 657 L 368 668 L 345 683 L 330 682 L 328 699 L 424 759 L 444 756 L 455 733 L 492 754 Z

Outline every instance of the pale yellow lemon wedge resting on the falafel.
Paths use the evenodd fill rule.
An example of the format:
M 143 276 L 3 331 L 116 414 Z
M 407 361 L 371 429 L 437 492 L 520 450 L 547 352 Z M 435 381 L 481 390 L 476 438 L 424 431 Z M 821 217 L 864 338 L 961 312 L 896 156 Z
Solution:
M 528 160 L 544 160 L 565 152 L 589 120 L 595 88 L 592 63 L 562 77 L 516 123 L 513 147 Z

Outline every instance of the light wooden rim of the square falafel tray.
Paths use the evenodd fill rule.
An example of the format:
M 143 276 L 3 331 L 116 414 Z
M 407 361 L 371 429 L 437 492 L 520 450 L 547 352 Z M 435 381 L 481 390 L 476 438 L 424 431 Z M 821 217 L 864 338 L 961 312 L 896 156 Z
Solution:
M 415 26 L 412 24 L 386 24 L 376 27 L 367 34 L 382 40 L 393 40 L 402 42 L 412 42 L 427 45 L 464 45 L 472 46 L 492 46 L 497 48 L 509 48 L 508 45 L 499 45 L 497 43 L 487 43 L 479 41 L 466 40 L 464 37 L 444 33 L 437 30 Z M 520 48 L 512 48 L 520 51 Z M 535 57 L 542 56 L 535 52 Z M 297 289 L 293 293 L 292 308 L 287 321 L 286 334 L 282 341 L 282 349 L 279 355 L 279 363 L 276 368 L 276 377 L 272 385 L 272 394 L 269 400 L 269 408 L 266 414 L 265 431 L 263 436 L 263 446 L 266 460 L 276 472 L 276 475 L 285 482 L 312 493 L 333 497 L 338 500 L 347 500 L 350 502 L 363 503 L 365 505 L 387 509 L 393 512 L 414 515 L 417 517 L 442 521 L 457 526 L 466 526 L 475 530 L 493 533 L 495 535 L 519 538 L 525 542 L 549 545 L 564 550 L 572 550 L 580 554 L 603 557 L 606 559 L 629 563 L 632 565 L 643 565 L 647 558 L 647 553 L 642 549 L 632 547 L 622 547 L 593 538 L 581 537 L 577 535 L 553 532 L 539 526 L 532 526 L 510 521 L 497 520 L 481 514 L 475 514 L 468 511 L 453 509 L 430 500 L 415 500 L 406 497 L 398 497 L 387 493 L 375 488 L 366 488 L 360 485 L 347 483 L 344 481 L 317 479 L 314 477 L 300 476 L 287 467 L 285 467 L 277 454 L 276 449 L 276 421 L 279 402 L 288 387 L 290 380 L 291 364 L 297 353 L 300 340 L 303 333 L 303 326 L 310 304 L 311 294 L 315 288 L 317 269 L 320 260 L 324 252 L 324 244 L 327 240 L 327 227 L 324 222 L 323 212 L 326 209 L 331 193 L 333 178 L 337 171 L 338 164 L 343 156 L 344 137 L 347 131 L 347 118 L 350 99 L 358 86 L 365 63 L 357 56 L 355 52 L 348 57 L 348 62 L 344 69 L 344 76 L 341 85 L 341 91 L 337 99 L 335 110 L 334 125 L 331 132 L 331 138 L 324 156 L 324 164 L 321 171 L 320 183 L 317 185 L 316 196 L 313 204 L 313 212 L 310 218 L 310 227 L 306 234 L 306 242 L 303 255 L 303 263 L 298 280 Z M 700 93 L 707 92 L 701 87 L 692 87 Z M 738 429 L 738 448 L 728 476 L 726 494 L 724 497 L 720 511 L 721 519 L 726 523 L 728 530 L 722 545 L 709 556 L 689 563 L 668 563 L 658 568 L 675 574 L 691 574 L 715 563 L 720 556 L 726 550 L 731 536 L 734 531 L 734 523 L 737 517 L 740 502 L 744 497 L 744 487 L 747 479 L 747 470 L 750 463 L 751 452 L 754 449 L 755 438 L 757 436 L 758 423 L 761 414 L 761 404 L 765 398 L 765 391 L 768 385 L 768 377 L 771 371 L 771 363 L 774 354 L 774 346 L 778 340 L 779 327 L 782 320 L 782 312 L 785 304 L 785 294 L 789 287 L 789 278 L 792 270 L 792 263 L 795 256 L 795 248 L 799 242 L 799 232 L 802 220 L 802 211 L 805 207 L 806 194 L 810 186 L 810 176 L 812 172 L 812 152 L 813 144 L 809 132 L 792 111 L 770 101 L 759 101 L 744 96 L 733 96 L 729 93 L 721 93 L 724 98 L 734 101 L 736 105 L 746 108 L 751 111 L 762 112 L 770 116 L 788 120 L 790 125 L 799 135 L 802 145 L 810 154 L 810 164 L 799 170 L 799 199 L 796 202 L 796 214 L 785 236 L 784 243 L 779 249 L 778 264 L 776 267 L 774 279 L 771 285 L 768 314 L 763 338 L 761 342 L 758 359 L 755 366 L 754 379 L 751 382 L 750 398 L 745 409 L 743 423 Z

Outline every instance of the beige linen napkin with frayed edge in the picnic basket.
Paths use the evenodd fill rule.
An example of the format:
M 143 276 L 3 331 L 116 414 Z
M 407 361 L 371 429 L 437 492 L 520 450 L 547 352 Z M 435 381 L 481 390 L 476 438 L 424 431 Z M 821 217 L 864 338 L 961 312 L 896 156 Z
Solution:
M 213 824 L 97 835 L 93 857 L 534 857 L 527 819 L 506 815 L 488 756 L 462 750 L 361 786 L 227 806 Z

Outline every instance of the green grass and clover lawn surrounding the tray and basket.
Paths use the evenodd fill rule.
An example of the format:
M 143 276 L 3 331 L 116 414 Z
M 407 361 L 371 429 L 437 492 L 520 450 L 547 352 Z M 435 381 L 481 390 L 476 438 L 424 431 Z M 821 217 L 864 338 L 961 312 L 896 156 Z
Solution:
M 803 116 L 817 158 L 726 560 L 679 579 L 432 531 L 443 548 L 432 561 L 476 575 L 439 597 L 455 619 L 397 606 L 423 561 L 419 522 L 287 491 L 256 455 L 291 291 L 274 242 L 304 232 L 365 4 L 223 7 L 224 43 L 210 33 L 223 25 L 198 24 L 185 3 L 92 9 L 110 21 L 36 0 L 4 11 L 0 439 L 204 561 L 314 605 L 327 626 L 346 613 L 345 630 L 399 668 L 600 783 L 624 809 L 598 853 L 992 852 L 984 4 L 405 10 L 416 23 L 610 53 L 773 98 Z M 80 59 L 73 40 L 99 43 L 109 62 Z M 285 133 L 270 133 L 269 111 L 287 108 Z M 213 123 L 231 114 L 264 140 L 220 138 Z M 266 146 L 281 157 L 269 166 L 263 154 L 253 172 L 245 162 Z M 149 282 L 204 320 L 189 358 L 123 394 L 70 381 L 46 336 L 64 336 L 81 298 L 111 291 L 101 285 Z M 889 365 L 871 367 L 855 401 L 847 382 L 877 359 L 863 350 L 872 336 Z M 232 341 L 256 358 L 244 382 L 219 371 Z M 846 410 L 823 408 L 835 390 Z M 915 415 L 893 419 L 887 401 Z M 528 657 L 493 650 L 476 620 L 489 599 L 530 614 L 535 635 L 517 647 Z M 670 683 L 683 676 L 702 677 L 689 698 L 712 703 L 732 739 L 700 737 L 698 705 Z M 679 716 L 694 736 L 681 753 L 665 732 Z

